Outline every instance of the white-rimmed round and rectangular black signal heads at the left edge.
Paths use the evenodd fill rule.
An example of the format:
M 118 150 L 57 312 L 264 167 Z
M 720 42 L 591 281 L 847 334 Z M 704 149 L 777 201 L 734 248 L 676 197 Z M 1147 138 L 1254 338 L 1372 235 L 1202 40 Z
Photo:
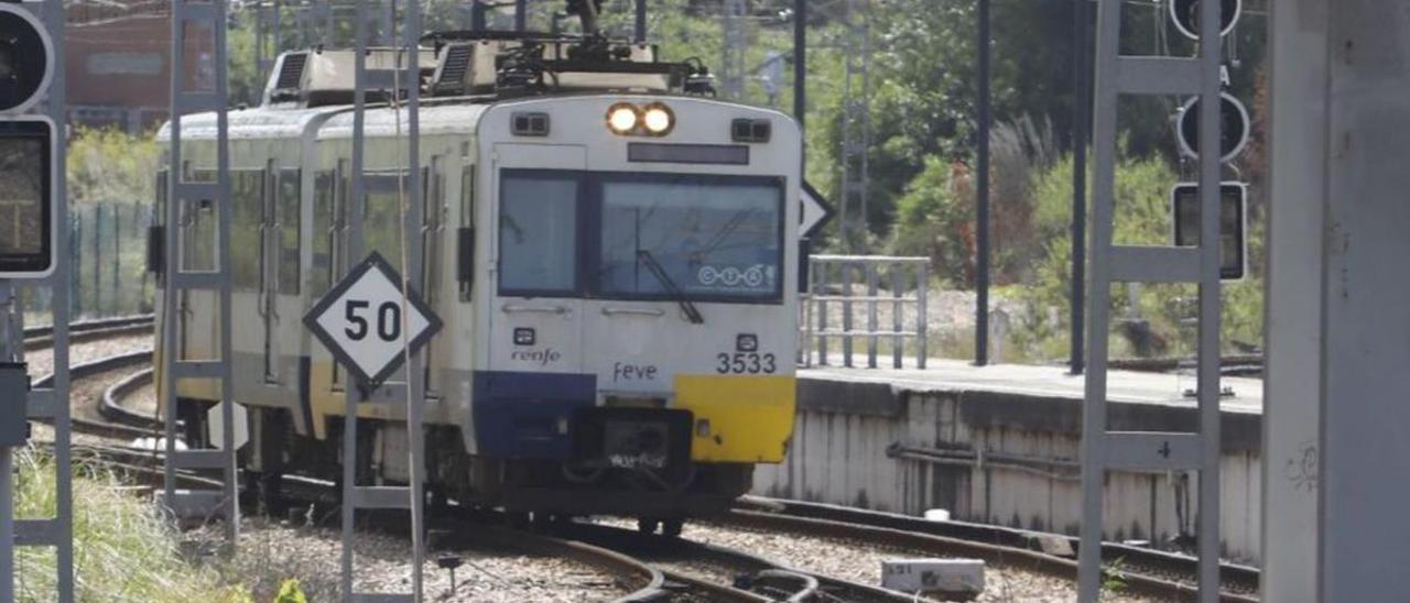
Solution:
M 0 4 L 0 279 L 54 272 L 55 125 L 25 116 L 54 79 L 48 30 L 25 8 Z

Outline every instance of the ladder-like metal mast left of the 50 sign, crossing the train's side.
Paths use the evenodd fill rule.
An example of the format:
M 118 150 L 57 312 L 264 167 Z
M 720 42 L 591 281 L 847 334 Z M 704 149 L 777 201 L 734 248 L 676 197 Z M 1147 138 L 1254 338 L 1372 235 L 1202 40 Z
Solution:
M 226 55 L 226 1 L 172 1 L 172 65 L 186 63 L 188 35 L 209 31 L 212 35 L 212 61 L 216 73 L 209 90 L 188 90 L 185 72 L 172 69 L 171 80 L 171 162 L 168 168 L 168 201 L 165 216 L 166 259 L 162 266 L 162 316 L 161 316 L 161 380 L 158 399 L 164 407 L 166 434 L 165 479 L 162 503 L 178 518 L 224 517 L 226 544 L 234 547 L 240 535 L 240 500 L 235 483 L 234 400 L 231 382 L 231 313 L 230 313 L 230 145 L 228 118 L 226 107 L 226 70 L 230 65 Z M 186 180 L 186 161 L 182 149 L 182 125 L 186 116 L 214 113 L 216 116 L 216 173 L 214 180 Z M 188 245 L 180 232 L 185 217 L 200 211 L 203 203 L 216 209 L 216 241 L 196 241 L 193 247 L 216 245 L 214 266 L 209 271 L 189 271 L 186 262 Z M 195 262 L 192 262 L 195 265 Z M 180 331 L 179 303 L 188 297 L 206 300 L 220 307 L 219 358 L 188 359 L 186 351 L 178 348 Z M 220 392 L 220 420 L 224 427 L 216 448 L 178 449 L 176 403 L 178 383 L 182 380 L 214 382 Z M 220 469 L 220 489 L 178 490 L 176 472 L 182 469 Z

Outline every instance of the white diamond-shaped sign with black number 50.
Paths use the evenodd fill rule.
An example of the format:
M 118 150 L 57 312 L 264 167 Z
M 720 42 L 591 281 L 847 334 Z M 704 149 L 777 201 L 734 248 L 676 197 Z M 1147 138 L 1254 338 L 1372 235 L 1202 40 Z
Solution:
M 402 296 L 402 276 L 374 252 L 357 265 L 303 317 L 313 331 L 362 383 L 378 386 L 441 327 L 415 290 Z

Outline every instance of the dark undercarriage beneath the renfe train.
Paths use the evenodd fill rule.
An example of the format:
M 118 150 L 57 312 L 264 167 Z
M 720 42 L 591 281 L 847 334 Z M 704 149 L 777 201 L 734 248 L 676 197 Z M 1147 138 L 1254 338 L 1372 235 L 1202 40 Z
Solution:
M 207 400 L 182 400 L 178 416 L 189 445 L 207 445 Z M 329 437 L 299 435 L 283 409 L 250 406 L 248 442 L 240 449 L 245 497 L 272 509 L 282 502 L 285 476 L 340 483 L 343 421 L 330 418 Z M 358 421 L 360 485 L 405 485 L 405 430 L 376 420 Z M 746 493 L 749 464 L 699 464 L 688 458 L 661 469 L 602 466 L 575 461 L 474 456 L 460 428 L 426 428 L 426 502 L 498 509 L 515 523 L 585 516 L 636 518 L 643 531 L 678 535 L 684 521 L 725 513 Z

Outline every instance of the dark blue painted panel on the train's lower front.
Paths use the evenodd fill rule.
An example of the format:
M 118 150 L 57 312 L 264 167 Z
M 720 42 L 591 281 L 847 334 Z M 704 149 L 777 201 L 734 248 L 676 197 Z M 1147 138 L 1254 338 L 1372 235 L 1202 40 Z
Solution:
M 575 410 L 595 406 L 596 390 L 596 375 L 475 371 L 471 417 L 479 454 L 568 458 L 572 434 L 560 425 L 568 425 Z

